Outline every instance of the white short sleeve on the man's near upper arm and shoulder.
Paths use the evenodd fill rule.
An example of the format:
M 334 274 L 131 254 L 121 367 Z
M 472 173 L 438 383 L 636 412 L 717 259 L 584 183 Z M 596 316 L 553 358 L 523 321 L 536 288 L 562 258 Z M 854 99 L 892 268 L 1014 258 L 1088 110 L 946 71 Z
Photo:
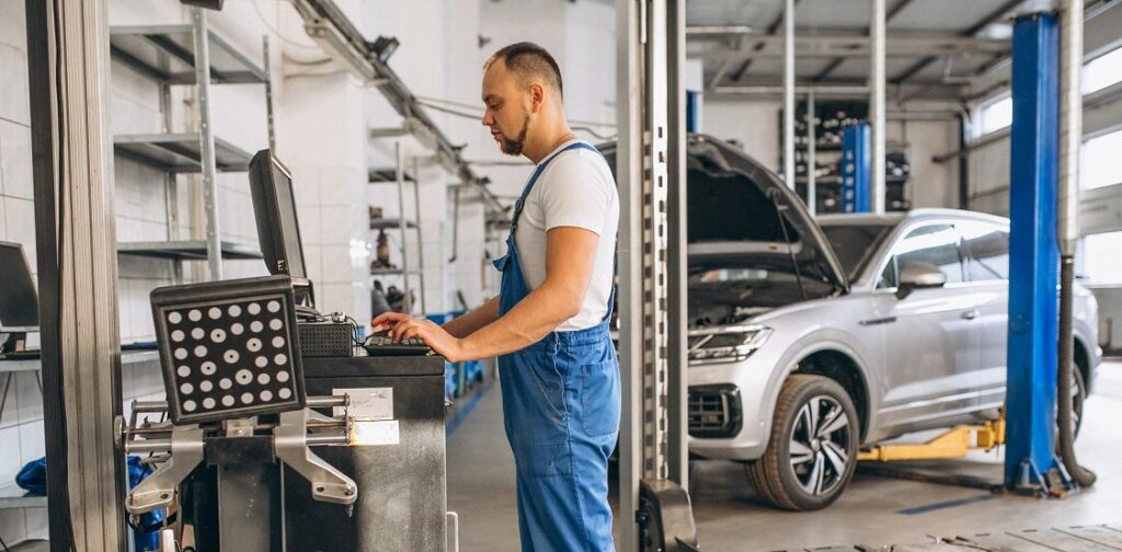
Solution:
M 604 232 L 613 190 L 604 182 L 596 160 L 585 155 L 568 155 L 553 162 L 539 195 L 545 231 L 574 227 L 597 236 Z

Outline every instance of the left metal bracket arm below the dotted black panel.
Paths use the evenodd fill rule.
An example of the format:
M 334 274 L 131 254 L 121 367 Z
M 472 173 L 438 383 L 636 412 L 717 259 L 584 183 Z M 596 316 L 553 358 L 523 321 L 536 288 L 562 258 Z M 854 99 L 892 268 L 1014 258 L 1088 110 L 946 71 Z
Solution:
M 125 504 L 129 514 L 144 514 L 172 505 L 180 482 L 203 461 L 203 430 L 197 425 L 172 429 L 172 456 L 140 481 Z

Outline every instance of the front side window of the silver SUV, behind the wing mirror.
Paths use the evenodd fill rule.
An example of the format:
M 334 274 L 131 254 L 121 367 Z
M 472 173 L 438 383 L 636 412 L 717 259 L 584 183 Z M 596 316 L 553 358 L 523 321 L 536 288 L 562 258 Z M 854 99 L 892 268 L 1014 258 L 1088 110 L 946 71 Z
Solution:
M 929 224 L 908 232 L 892 249 L 892 258 L 881 274 L 877 287 L 895 287 L 908 265 L 931 265 L 947 276 L 947 283 L 963 282 L 963 259 L 954 224 Z

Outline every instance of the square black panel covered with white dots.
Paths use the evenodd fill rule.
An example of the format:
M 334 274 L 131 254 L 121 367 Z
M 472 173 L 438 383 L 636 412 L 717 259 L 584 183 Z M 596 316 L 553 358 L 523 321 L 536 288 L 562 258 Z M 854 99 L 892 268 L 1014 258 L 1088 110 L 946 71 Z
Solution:
M 173 423 L 304 407 L 287 276 L 160 287 L 151 304 Z

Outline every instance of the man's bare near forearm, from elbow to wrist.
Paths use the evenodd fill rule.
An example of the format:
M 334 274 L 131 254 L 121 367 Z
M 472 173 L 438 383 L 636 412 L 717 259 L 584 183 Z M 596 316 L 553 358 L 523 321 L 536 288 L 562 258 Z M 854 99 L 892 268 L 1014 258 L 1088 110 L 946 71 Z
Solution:
M 550 285 L 534 289 L 508 313 L 470 333 L 463 341 L 468 356 L 491 358 L 536 343 L 577 314 L 580 304 L 573 305 L 570 295 L 569 291 Z

